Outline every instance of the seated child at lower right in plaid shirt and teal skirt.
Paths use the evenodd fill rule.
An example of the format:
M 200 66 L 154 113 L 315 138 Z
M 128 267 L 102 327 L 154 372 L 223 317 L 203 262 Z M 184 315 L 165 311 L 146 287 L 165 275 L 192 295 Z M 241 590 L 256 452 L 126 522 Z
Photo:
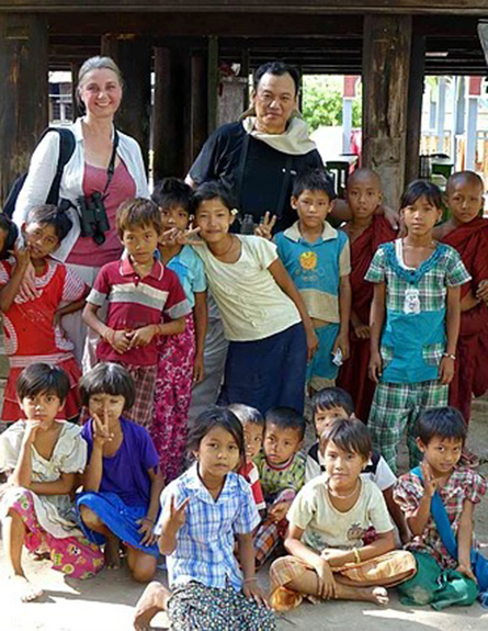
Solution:
M 400 591 L 407 605 L 443 609 L 450 605 L 472 605 L 478 594 L 470 563 L 473 510 L 486 493 L 485 480 L 457 466 L 466 440 L 466 424 L 453 407 L 424 412 L 417 428 L 417 442 L 423 462 L 402 475 L 395 500 L 406 512 L 412 534 L 418 573 Z M 457 559 L 444 547 L 432 516 L 432 497 L 439 493 L 457 539 Z M 453 572 L 455 571 L 455 572 Z

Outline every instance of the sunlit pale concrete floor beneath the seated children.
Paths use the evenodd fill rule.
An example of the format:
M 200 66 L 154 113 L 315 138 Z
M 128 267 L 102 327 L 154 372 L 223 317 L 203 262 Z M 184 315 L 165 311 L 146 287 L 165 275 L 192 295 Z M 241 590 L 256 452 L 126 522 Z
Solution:
M 475 403 L 469 446 L 488 459 L 488 399 Z M 488 465 L 480 467 L 488 474 Z M 476 510 L 476 532 L 488 555 L 488 498 Z M 1 541 L 0 541 L 1 551 Z M 46 561 L 25 557 L 27 576 L 42 586 L 45 595 L 38 602 L 19 604 L 9 594 L 4 557 L 0 554 L 0 630 L 1 631 L 128 631 L 133 607 L 143 587 L 133 583 L 126 570 L 105 570 L 87 582 L 66 581 L 49 570 Z M 163 573 L 160 573 L 160 579 Z M 260 582 L 266 585 L 265 571 Z M 164 615 L 155 619 L 155 629 L 167 629 Z M 487 631 L 488 610 L 479 605 L 435 612 L 429 608 L 406 608 L 395 591 L 388 607 L 370 604 L 305 604 L 279 618 L 280 631 Z M 239 630 L 236 630 L 239 631 Z

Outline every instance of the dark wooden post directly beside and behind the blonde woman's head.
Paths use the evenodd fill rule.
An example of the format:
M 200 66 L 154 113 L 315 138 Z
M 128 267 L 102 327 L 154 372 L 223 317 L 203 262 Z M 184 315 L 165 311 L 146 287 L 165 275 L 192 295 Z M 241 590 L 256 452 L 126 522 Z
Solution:
M 146 170 L 149 162 L 151 54 L 151 43 L 147 37 L 120 34 L 102 37 L 102 55 L 114 59 L 121 68 L 125 84 L 116 124 L 121 132 L 139 143 Z

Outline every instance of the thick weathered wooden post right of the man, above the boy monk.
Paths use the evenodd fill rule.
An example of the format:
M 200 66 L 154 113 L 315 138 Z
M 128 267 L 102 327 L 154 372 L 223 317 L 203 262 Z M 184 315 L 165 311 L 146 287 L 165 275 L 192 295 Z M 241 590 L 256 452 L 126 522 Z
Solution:
M 411 30 L 409 15 L 364 18 L 363 165 L 394 207 L 405 182 Z

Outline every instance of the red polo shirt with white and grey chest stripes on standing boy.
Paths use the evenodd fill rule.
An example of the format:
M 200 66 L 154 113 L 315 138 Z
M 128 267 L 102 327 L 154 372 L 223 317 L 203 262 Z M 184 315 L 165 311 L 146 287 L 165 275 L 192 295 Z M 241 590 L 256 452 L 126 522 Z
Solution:
M 115 330 L 136 330 L 164 319 L 177 319 L 191 313 L 178 275 L 155 260 L 151 271 L 143 278 L 124 258 L 103 266 L 87 302 L 102 306 L 109 302 L 106 326 Z M 156 365 L 158 349 L 155 337 L 145 347 L 117 353 L 101 340 L 97 357 L 101 361 L 124 362 L 128 365 Z

